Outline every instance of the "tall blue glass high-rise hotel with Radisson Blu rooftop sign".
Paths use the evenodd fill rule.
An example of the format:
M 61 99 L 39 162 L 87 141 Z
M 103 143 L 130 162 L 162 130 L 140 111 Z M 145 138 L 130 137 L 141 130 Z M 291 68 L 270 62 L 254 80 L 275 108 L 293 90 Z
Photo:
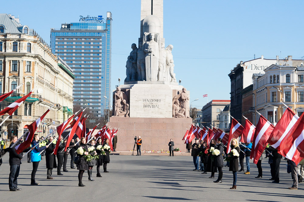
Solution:
M 111 24 L 111 12 L 107 12 L 106 19 L 100 15 L 79 16 L 79 22 L 61 24 L 60 29 L 52 28 L 50 33 L 52 52 L 60 56 L 76 76 L 73 104 L 90 108 L 96 119 L 102 117 L 109 106 L 104 96 L 112 97 Z

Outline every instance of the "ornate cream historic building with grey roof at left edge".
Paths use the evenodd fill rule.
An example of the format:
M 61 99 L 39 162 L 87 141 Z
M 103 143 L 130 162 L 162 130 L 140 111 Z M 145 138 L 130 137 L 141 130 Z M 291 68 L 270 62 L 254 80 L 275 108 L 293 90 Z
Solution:
M 53 104 L 37 134 L 45 136 L 54 130 L 72 114 L 74 78 L 71 68 L 51 52 L 33 29 L 21 25 L 13 15 L 0 14 L 0 93 L 8 93 L 21 85 L 1 102 L 1 110 L 34 88 L 30 97 L 2 125 L 2 137 L 21 136 L 26 125 Z M 3 136 L 5 132 L 8 136 Z

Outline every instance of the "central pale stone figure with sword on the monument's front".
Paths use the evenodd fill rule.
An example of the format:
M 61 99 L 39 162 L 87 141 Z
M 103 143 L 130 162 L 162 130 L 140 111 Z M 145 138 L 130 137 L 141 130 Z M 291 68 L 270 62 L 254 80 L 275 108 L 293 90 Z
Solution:
M 146 39 L 147 32 L 144 33 L 144 40 Z M 148 41 L 143 44 L 143 51 L 146 53 L 146 78 L 150 81 L 157 81 L 157 70 L 159 61 L 159 45 L 158 34 L 149 33 Z

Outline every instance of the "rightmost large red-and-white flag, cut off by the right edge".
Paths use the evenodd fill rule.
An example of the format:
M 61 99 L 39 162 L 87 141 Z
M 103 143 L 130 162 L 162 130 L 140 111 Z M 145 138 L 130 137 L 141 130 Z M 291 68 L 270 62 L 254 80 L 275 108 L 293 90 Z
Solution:
M 304 113 L 281 141 L 278 153 L 296 165 L 304 158 Z

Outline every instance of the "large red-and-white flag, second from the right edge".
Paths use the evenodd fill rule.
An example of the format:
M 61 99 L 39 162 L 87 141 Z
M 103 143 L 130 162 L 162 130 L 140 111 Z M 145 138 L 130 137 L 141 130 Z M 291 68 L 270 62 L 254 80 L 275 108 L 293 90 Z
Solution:
M 291 109 L 287 108 L 270 134 L 268 143 L 273 148 L 278 148 L 284 137 L 292 130 L 299 117 Z

